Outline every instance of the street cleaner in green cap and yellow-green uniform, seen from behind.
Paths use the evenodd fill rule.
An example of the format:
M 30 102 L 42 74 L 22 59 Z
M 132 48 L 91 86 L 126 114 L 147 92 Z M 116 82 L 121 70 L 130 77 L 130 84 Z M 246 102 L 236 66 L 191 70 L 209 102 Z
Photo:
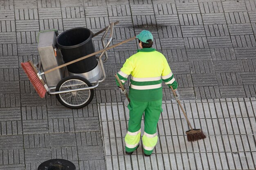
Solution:
M 152 48 L 153 35 L 143 30 L 136 36 L 139 39 L 137 53 L 129 57 L 117 73 L 122 84 L 131 74 L 128 132 L 125 137 L 126 154 L 132 154 L 139 147 L 141 137 L 141 118 L 144 115 L 144 135 L 142 143 L 144 155 L 150 156 L 157 144 L 157 122 L 162 112 L 162 80 L 176 92 L 175 99 L 180 95 L 177 82 L 170 66 L 162 53 Z M 117 86 L 120 87 L 117 79 Z M 120 91 L 123 92 L 120 88 Z

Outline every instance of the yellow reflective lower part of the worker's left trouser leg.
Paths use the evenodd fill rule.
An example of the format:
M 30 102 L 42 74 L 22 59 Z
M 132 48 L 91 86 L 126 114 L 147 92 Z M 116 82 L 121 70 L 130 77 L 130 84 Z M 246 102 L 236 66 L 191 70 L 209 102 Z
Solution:
M 137 132 L 127 132 L 126 136 L 124 138 L 125 145 L 126 145 L 126 151 L 132 152 L 136 149 L 136 147 L 139 144 L 140 139 L 140 129 Z

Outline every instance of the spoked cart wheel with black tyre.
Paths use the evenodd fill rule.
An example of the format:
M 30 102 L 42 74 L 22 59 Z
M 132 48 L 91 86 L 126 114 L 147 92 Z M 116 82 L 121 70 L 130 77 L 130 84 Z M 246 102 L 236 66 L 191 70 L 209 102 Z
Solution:
M 61 79 L 56 86 L 56 91 L 74 90 L 78 88 L 90 87 L 92 84 L 84 77 L 72 75 Z M 73 91 L 56 95 L 58 101 L 67 108 L 83 108 L 87 106 L 93 98 L 93 89 L 83 91 Z

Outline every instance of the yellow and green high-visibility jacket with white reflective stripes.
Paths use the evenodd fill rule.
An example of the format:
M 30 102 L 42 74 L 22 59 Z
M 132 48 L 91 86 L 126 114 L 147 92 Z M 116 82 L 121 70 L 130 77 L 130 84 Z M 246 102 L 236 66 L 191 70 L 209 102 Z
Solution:
M 170 66 L 164 55 L 153 48 L 144 48 L 129 57 L 117 73 L 122 84 L 132 75 L 129 98 L 138 101 L 162 99 L 162 80 L 177 88 Z M 117 81 L 116 81 L 117 82 Z M 117 82 L 119 86 L 119 83 Z

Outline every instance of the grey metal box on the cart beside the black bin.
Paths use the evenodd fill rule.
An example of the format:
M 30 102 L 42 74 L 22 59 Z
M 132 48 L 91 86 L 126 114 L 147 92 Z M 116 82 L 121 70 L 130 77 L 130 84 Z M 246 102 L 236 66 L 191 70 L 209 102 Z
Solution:
M 57 36 L 54 30 L 45 30 L 39 33 L 38 52 L 44 71 L 64 63 L 61 51 L 55 47 L 56 38 Z M 56 86 L 58 82 L 63 78 L 64 71 L 65 67 L 45 74 L 47 86 Z

